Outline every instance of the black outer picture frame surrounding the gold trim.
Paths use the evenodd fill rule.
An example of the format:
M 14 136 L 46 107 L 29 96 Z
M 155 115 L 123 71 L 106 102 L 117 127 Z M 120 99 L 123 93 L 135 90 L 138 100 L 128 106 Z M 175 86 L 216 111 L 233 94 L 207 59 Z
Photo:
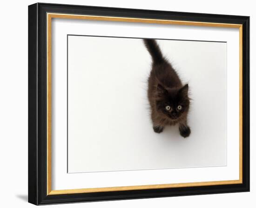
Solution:
M 243 25 L 243 182 L 47 195 L 47 13 Z M 249 17 L 36 3 L 28 6 L 28 202 L 35 205 L 249 191 Z

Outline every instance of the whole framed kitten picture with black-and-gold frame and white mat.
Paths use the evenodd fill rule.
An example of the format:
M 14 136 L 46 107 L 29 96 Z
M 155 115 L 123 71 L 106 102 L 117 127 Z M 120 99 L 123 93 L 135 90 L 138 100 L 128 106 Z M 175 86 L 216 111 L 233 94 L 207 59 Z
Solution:
M 28 7 L 28 201 L 249 191 L 249 17 Z

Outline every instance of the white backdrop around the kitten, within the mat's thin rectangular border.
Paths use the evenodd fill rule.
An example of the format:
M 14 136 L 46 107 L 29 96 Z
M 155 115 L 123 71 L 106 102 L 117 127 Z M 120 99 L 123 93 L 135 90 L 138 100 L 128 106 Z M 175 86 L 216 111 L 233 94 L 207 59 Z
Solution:
M 68 173 L 227 165 L 227 43 L 157 42 L 189 82 L 190 136 L 152 128 L 142 39 L 68 36 Z

